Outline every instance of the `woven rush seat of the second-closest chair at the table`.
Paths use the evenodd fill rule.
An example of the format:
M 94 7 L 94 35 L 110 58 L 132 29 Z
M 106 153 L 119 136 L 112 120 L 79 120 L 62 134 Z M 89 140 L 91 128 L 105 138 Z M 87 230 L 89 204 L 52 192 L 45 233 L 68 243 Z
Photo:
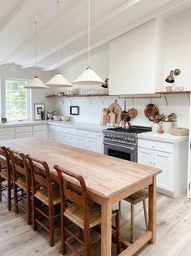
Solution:
M 35 197 L 38 198 L 41 202 L 44 202 L 45 205 L 49 206 L 49 194 L 48 189 L 38 189 L 35 193 Z M 57 205 L 61 202 L 60 189 L 58 184 L 53 184 L 53 205 Z

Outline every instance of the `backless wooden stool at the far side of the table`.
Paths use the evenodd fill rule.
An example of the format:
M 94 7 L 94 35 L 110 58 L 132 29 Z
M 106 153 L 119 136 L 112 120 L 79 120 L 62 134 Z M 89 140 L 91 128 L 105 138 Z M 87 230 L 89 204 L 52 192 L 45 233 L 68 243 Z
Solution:
M 142 204 L 143 204 L 145 225 L 146 225 L 146 230 L 148 230 L 148 216 L 147 216 L 147 210 L 146 210 L 146 198 L 147 197 L 148 197 L 148 189 L 142 189 L 124 199 L 126 202 L 129 202 L 131 204 L 131 228 L 130 228 L 131 243 L 134 243 L 134 241 L 135 241 L 135 237 L 134 237 L 134 216 L 135 216 L 134 215 L 134 206 L 137 205 L 139 202 L 142 202 Z M 120 211 L 121 211 L 121 203 L 120 203 Z

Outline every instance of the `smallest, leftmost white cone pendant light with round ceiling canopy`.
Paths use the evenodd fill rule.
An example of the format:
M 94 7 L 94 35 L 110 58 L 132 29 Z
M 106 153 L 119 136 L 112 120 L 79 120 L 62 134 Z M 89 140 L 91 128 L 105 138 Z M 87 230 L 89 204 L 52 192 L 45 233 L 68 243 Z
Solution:
M 36 49 L 37 49 L 36 24 L 37 24 L 37 21 L 39 20 L 39 17 L 38 16 L 34 16 L 34 17 L 32 17 L 32 20 L 35 23 L 35 66 L 36 66 L 36 69 L 37 69 L 37 58 L 36 58 Z M 24 88 L 25 89 L 47 89 L 49 87 L 47 85 L 45 85 L 45 83 L 42 80 L 40 80 L 38 78 L 38 76 L 35 76 L 28 83 L 28 85 L 24 86 Z

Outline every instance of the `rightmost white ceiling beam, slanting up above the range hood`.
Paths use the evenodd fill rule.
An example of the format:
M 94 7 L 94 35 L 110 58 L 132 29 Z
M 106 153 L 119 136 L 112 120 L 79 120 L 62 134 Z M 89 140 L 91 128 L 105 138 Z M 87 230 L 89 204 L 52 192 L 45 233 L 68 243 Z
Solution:
M 182 5 L 183 3 L 189 2 L 190 0 L 184 0 L 180 3 L 180 0 L 174 0 L 173 1 L 173 5 L 172 2 L 170 2 L 167 6 L 165 7 L 161 7 L 159 10 L 156 10 L 154 12 L 151 12 L 148 15 L 144 15 L 142 16 L 142 18 L 134 21 L 133 23 L 129 24 L 127 27 L 122 28 L 120 31 L 117 31 L 117 33 L 112 33 L 112 35 L 97 41 L 96 43 L 94 43 L 93 45 L 91 45 L 91 50 L 94 50 L 100 46 L 103 46 L 104 44 L 108 43 L 109 41 L 112 41 L 113 39 L 120 37 L 121 35 L 129 32 L 130 30 L 148 22 L 149 20 L 155 19 L 156 17 L 159 17 L 161 15 L 163 15 L 164 13 L 168 12 L 168 11 L 172 11 L 174 8 L 179 7 L 180 5 Z M 175 4 L 176 3 L 176 4 Z M 83 56 L 83 54 L 86 54 L 88 51 L 87 47 L 84 48 L 83 50 L 80 50 L 79 52 L 70 55 L 69 57 L 67 57 L 66 59 L 62 59 L 60 61 L 60 66 L 65 65 L 66 63 L 70 63 L 70 61 L 79 58 L 80 56 Z M 51 70 L 55 70 L 57 69 L 58 64 L 55 63 L 53 64 L 51 67 L 45 67 L 43 69 L 43 71 L 51 71 Z

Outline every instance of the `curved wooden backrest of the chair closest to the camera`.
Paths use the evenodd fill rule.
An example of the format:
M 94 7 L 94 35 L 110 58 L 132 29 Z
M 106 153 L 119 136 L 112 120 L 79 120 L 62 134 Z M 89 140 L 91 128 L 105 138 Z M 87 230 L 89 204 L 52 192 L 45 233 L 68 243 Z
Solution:
M 62 212 L 66 210 L 66 200 L 70 200 L 78 206 L 83 207 L 84 224 L 87 226 L 86 228 L 89 228 L 87 187 L 83 176 L 76 175 L 74 172 L 68 171 L 58 165 L 54 165 L 54 169 L 57 170 L 60 185 Z M 70 185 L 71 182 L 69 180 L 71 178 L 78 181 L 78 188 L 74 189 L 74 187 Z

